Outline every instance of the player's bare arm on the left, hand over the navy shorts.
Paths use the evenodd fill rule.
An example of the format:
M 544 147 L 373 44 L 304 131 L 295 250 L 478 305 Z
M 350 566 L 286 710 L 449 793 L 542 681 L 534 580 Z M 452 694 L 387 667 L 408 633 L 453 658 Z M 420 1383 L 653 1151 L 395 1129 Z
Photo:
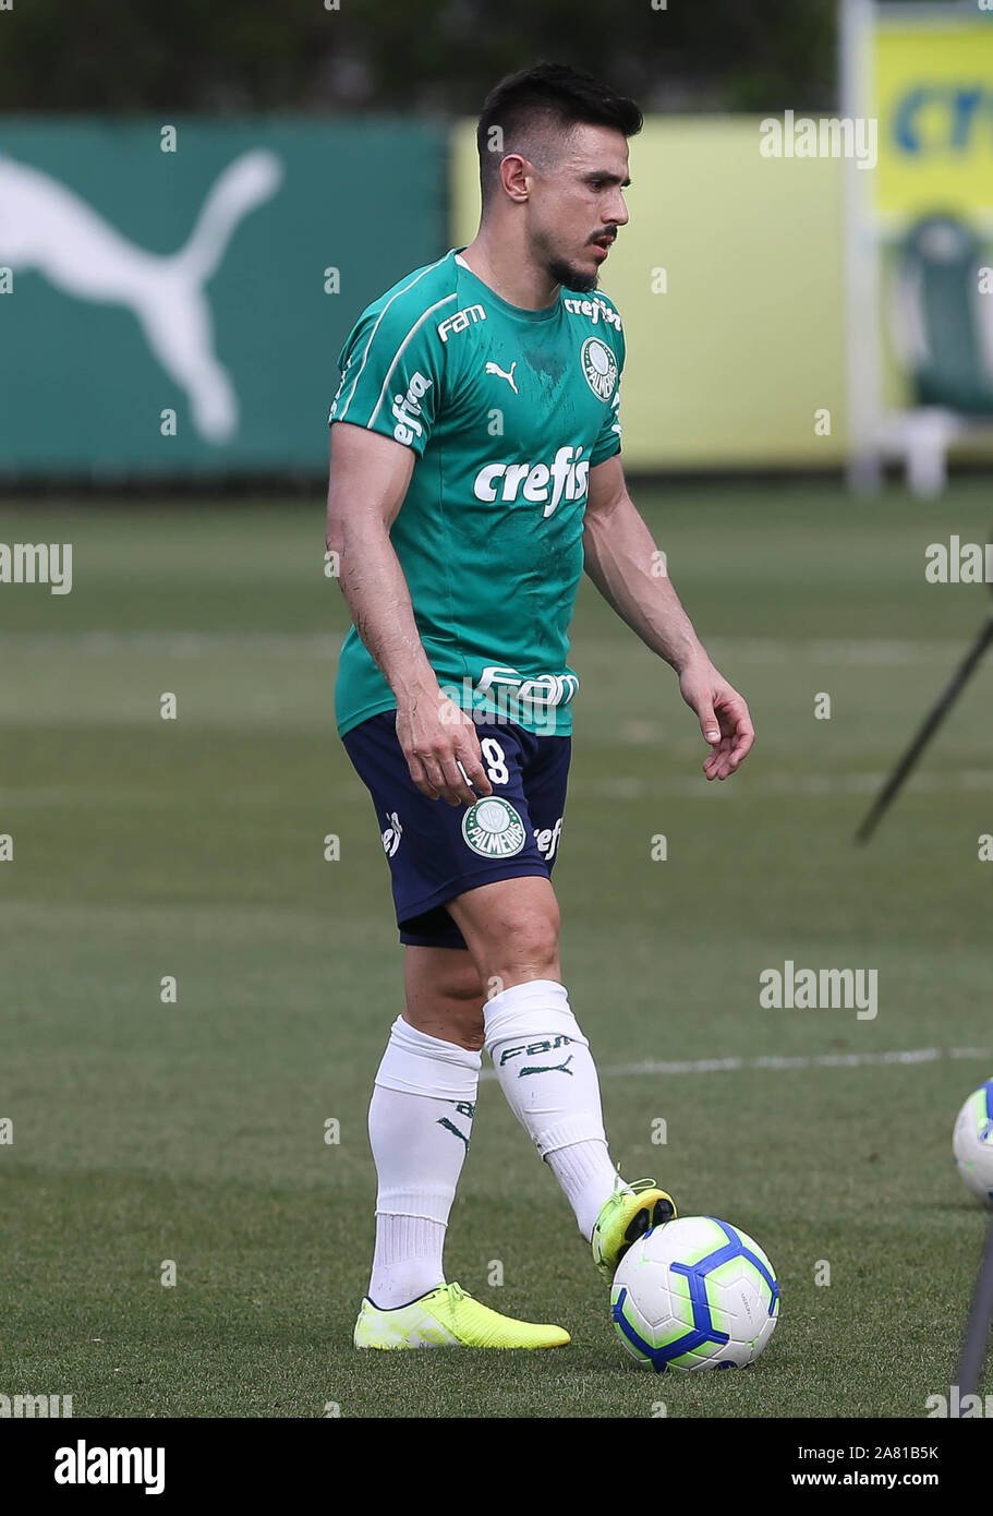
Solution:
M 397 700 L 397 738 L 411 778 L 431 799 L 471 805 L 493 787 L 471 717 L 441 693 L 417 632 L 411 591 L 390 541 L 415 456 L 364 426 L 330 428 L 327 547 L 355 629 Z M 468 787 L 461 763 L 475 791 Z

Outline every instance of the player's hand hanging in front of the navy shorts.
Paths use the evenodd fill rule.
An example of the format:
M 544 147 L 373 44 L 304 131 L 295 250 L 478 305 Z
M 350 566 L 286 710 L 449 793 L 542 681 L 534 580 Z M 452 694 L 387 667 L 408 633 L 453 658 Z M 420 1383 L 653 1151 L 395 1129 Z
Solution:
M 484 794 L 493 794 L 476 725 L 440 688 L 423 690 L 397 703 L 397 740 L 411 779 L 429 800 L 473 805 Z

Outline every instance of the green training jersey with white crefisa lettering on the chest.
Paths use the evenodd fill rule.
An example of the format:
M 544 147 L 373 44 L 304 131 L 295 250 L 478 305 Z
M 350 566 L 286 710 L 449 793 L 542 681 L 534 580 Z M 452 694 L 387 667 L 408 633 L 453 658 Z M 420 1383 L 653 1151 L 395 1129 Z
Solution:
M 523 311 L 452 249 L 374 300 L 344 344 L 329 423 L 415 455 L 390 540 L 438 682 L 476 720 L 572 731 L 569 626 L 590 468 L 620 450 L 620 315 L 561 290 Z M 338 732 L 396 706 L 349 631 Z

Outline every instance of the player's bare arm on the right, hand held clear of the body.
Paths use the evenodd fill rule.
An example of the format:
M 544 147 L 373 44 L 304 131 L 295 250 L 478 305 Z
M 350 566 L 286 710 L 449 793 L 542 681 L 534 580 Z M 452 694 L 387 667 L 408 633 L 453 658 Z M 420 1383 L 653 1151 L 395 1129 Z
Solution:
M 582 546 L 587 573 L 608 605 L 675 669 L 711 744 L 703 773 L 726 779 L 755 741 L 749 708 L 714 669 L 669 575 L 659 573 L 664 559 L 628 494 L 620 453 L 590 470 Z

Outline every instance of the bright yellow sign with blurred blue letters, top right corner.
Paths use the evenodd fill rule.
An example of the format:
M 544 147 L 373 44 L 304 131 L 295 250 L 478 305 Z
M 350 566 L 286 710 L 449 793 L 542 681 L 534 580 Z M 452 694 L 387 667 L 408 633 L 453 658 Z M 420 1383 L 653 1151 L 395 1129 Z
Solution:
M 905 23 L 876 14 L 876 211 L 993 215 L 993 12 Z

